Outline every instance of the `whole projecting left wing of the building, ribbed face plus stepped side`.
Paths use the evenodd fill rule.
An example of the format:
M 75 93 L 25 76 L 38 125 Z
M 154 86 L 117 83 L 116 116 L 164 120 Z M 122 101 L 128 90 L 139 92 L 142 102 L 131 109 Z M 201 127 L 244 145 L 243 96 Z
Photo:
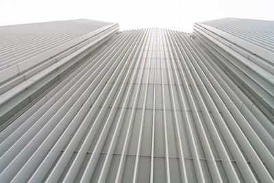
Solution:
M 80 32 L 81 29 L 86 31 Z M 0 48 L 3 53 L 0 59 L 0 130 L 21 115 L 24 110 L 19 111 L 22 108 L 32 106 L 38 95 L 47 93 L 46 89 L 51 90 L 49 87 L 54 87 L 54 83 L 72 71 L 83 58 L 90 55 L 90 51 L 108 40 L 118 29 L 114 23 L 89 20 L 0 27 L 1 38 L 10 42 Z M 34 40 L 23 40 L 18 44 L 19 38 Z M 49 42 L 53 42 L 54 46 Z M 9 53 L 14 58 L 8 57 Z

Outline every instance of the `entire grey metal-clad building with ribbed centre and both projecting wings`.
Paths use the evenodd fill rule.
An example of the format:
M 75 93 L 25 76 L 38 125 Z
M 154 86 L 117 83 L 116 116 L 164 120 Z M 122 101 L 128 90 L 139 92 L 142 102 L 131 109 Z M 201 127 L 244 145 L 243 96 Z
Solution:
M 274 182 L 274 21 L 192 34 L 0 27 L 0 182 Z

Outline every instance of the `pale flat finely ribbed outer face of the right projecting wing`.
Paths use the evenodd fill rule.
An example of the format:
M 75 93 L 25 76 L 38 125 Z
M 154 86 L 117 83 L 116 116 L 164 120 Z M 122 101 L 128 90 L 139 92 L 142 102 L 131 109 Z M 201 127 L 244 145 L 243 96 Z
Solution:
M 274 21 L 225 18 L 197 25 L 274 63 Z

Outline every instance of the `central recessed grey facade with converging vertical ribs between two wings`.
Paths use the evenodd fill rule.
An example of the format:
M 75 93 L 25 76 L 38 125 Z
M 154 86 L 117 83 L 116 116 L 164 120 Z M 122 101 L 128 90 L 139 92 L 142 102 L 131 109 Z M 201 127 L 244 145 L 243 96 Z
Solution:
M 18 94 L 27 106 L 1 107 L 18 112 L 2 118 L 0 180 L 273 182 L 262 87 L 220 44 L 197 29 L 137 29 L 73 57 Z

